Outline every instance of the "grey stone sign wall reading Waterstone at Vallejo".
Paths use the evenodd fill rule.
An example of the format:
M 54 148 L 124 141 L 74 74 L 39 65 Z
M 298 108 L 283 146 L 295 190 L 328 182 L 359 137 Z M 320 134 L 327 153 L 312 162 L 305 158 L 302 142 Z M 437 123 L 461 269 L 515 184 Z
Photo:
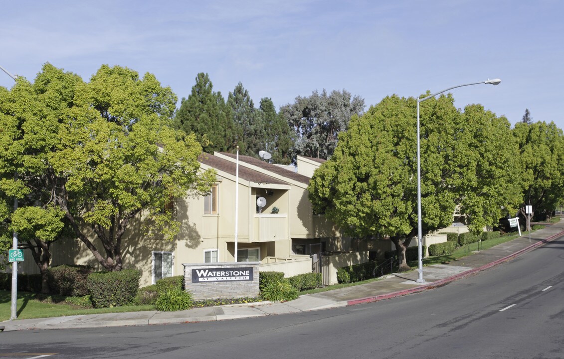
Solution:
M 183 263 L 184 287 L 195 300 L 258 296 L 260 263 Z

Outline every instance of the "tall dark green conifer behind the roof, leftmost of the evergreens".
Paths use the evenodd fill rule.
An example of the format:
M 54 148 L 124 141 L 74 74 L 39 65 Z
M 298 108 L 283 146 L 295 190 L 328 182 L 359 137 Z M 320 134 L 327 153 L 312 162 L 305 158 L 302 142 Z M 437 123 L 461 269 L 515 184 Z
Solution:
M 174 126 L 187 134 L 196 134 L 205 152 L 232 150 L 237 145 L 239 131 L 231 109 L 225 104 L 221 92 L 213 91 L 207 73 L 197 74 L 192 93 L 188 99 L 182 98 Z

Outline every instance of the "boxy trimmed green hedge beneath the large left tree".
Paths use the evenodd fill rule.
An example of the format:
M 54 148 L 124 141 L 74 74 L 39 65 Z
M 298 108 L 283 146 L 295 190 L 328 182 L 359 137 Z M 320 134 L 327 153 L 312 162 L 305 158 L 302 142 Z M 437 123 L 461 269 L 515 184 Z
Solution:
M 141 273 L 133 269 L 120 272 L 91 273 L 88 290 L 94 308 L 118 307 L 131 304 L 139 290 Z

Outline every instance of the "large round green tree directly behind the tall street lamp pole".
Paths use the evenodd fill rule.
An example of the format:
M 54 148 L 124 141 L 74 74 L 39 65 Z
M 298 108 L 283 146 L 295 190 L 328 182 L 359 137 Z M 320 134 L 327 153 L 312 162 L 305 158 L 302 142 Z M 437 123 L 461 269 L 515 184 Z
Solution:
M 447 174 L 458 116 L 452 97 L 423 103 L 421 198 L 424 233 L 452 223 L 456 194 Z M 345 234 L 389 237 L 398 249 L 400 269 L 409 269 L 406 248 L 417 233 L 416 101 L 386 97 L 342 132 L 333 156 L 316 170 L 309 197 Z M 431 121 L 441 118 L 442 123 Z M 438 132 L 439 125 L 442 133 Z

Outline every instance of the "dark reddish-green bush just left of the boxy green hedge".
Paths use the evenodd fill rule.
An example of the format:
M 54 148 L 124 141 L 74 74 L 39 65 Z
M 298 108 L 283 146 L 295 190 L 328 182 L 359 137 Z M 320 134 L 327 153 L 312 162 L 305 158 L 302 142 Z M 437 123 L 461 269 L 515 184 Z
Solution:
M 86 278 L 94 269 L 88 265 L 58 265 L 47 269 L 49 288 L 53 294 L 85 296 L 90 294 Z

